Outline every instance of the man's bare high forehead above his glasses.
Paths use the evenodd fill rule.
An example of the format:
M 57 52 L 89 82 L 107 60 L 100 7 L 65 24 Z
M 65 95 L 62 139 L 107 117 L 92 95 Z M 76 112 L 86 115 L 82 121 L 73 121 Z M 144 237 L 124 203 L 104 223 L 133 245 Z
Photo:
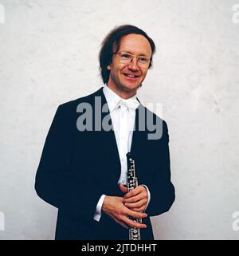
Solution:
M 151 45 L 141 34 L 130 33 L 119 41 L 119 52 L 151 56 Z

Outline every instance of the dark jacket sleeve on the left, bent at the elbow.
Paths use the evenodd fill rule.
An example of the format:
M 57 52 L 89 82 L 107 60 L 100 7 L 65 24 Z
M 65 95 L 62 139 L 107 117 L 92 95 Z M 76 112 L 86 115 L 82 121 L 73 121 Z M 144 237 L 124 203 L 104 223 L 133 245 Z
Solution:
M 74 110 L 65 104 L 57 108 L 37 168 L 35 190 L 41 199 L 54 207 L 79 218 L 92 219 L 104 191 L 91 179 L 83 179 L 79 175 L 84 170 L 76 171 L 72 167 L 76 133 Z

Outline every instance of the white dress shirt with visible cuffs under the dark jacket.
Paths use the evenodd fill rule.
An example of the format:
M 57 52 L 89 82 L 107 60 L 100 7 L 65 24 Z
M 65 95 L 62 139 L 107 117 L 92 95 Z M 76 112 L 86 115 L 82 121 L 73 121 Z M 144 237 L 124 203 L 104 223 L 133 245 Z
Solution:
M 109 112 L 112 118 L 112 126 L 116 136 L 116 143 L 119 152 L 119 160 L 121 163 L 121 174 L 118 180 L 119 184 L 127 185 L 127 152 L 131 151 L 131 142 L 135 125 L 135 109 L 139 106 L 136 95 L 125 100 L 109 89 L 107 85 L 103 88 L 104 96 L 108 103 Z M 148 203 L 150 202 L 150 191 L 146 185 Z M 94 215 L 96 221 L 100 220 L 101 207 L 106 195 L 101 195 Z

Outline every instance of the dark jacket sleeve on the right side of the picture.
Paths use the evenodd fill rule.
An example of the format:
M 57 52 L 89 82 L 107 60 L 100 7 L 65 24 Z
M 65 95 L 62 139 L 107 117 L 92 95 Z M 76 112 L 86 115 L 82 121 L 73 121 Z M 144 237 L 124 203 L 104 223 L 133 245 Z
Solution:
M 174 203 L 174 185 L 170 181 L 170 153 L 169 153 L 169 136 L 167 124 L 163 121 L 163 137 L 159 148 L 159 163 L 154 173 L 154 179 L 149 184 L 151 191 L 151 202 L 147 207 L 147 215 L 161 215 L 169 211 Z

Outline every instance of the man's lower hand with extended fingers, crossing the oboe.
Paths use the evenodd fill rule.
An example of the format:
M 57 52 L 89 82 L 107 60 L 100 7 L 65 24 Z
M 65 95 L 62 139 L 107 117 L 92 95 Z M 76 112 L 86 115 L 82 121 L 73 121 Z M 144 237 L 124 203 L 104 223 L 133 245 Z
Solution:
M 128 228 L 129 226 L 146 228 L 147 226 L 143 223 L 136 223 L 127 216 L 135 218 L 145 218 L 147 214 L 140 213 L 137 211 L 132 211 L 123 205 L 123 197 L 118 196 L 105 196 L 104 203 L 102 205 L 102 211 L 112 217 L 121 226 Z

